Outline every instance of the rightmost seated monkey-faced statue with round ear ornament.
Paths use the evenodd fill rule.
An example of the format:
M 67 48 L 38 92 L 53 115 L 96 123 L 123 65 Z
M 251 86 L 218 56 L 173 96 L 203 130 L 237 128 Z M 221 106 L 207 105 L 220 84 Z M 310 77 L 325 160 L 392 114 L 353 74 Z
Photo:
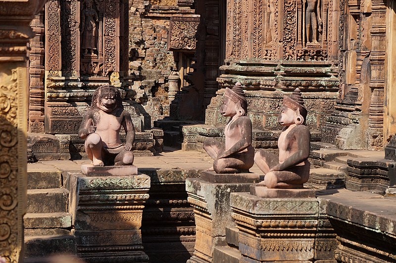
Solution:
M 259 185 L 268 188 L 302 188 L 308 181 L 310 132 L 305 126 L 306 108 L 301 92 L 295 89 L 292 95 L 284 96 L 278 123 L 284 129 L 278 139 L 279 157 L 265 150 L 254 155 L 254 161 L 264 172 L 264 181 Z

